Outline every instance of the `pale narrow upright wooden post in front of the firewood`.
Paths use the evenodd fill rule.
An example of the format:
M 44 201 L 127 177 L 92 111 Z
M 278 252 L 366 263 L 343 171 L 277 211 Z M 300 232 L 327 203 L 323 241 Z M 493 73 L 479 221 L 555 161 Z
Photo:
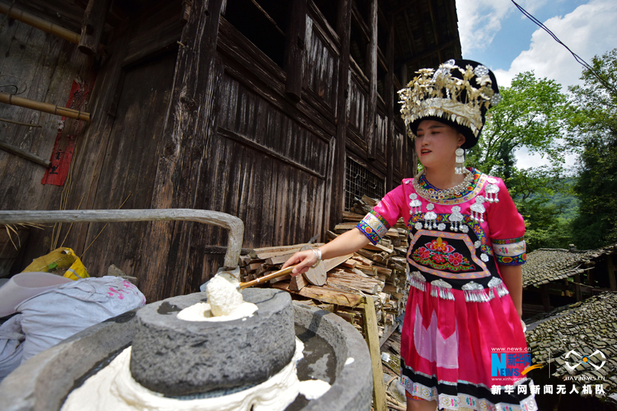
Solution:
M 375 411 L 387 411 L 385 384 L 383 382 L 383 367 L 381 365 L 381 352 L 379 345 L 379 333 L 377 329 L 377 316 L 373 298 L 365 296 L 362 306 L 364 337 L 371 354 L 373 364 L 373 409 Z

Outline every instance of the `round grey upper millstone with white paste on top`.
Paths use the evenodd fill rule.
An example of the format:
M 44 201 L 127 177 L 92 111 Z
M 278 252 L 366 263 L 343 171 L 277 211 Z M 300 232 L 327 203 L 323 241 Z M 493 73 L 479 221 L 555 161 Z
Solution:
M 183 321 L 176 315 L 188 296 L 138 310 L 130 371 L 141 385 L 181 397 L 264 382 L 295 352 L 291 297 L 271 288 L 247 288 L 253 316 L 232 321 Z M 203 301 L 207 301 L 204 299 Z

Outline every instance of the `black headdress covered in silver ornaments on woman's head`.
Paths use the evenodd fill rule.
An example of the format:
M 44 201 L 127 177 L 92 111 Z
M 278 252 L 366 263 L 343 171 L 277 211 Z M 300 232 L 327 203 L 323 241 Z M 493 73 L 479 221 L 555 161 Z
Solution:
M 398 92 L 400 112 L 411 138 L 415 138 L 418 125 L 409 125 L 436 117 L 466 127 L 472 132 L 472 140 L 477 140 L 486 110 L 499 103 L 501 97 L 489 69 L 470 60 L 459 60 L 458 64 L 461 66 L 455 60 L 448 60 L 437 70 L 421 69 Z M 475 141 L 470 144 L 475 145 Z

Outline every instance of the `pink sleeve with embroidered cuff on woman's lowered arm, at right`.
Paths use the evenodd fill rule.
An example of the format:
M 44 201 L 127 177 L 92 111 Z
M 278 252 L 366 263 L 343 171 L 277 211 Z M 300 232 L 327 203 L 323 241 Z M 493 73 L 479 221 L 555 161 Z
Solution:
M 497 180 L 496 186 L 499 191 L 496 193 L 496 199 L 499 201 L 487 207 L 486 217 L 495 260 L 503 265 L 524 264 L 527 258 L 524 240 L 525 222 L 516 210 L 516 205 L 503 180 L 493 178 Z M 485 193 L 485 197 L 492 197 L 492 194 Z

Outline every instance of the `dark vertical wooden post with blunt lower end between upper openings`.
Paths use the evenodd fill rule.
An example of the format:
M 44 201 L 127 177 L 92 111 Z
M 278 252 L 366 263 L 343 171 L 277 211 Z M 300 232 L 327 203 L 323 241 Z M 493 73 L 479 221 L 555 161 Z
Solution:
M 306 0 L 293 0 L 289 29 L 285 35 L 285 92 L 298 103 L 302 99 L 304 52 L 306 49 Z

